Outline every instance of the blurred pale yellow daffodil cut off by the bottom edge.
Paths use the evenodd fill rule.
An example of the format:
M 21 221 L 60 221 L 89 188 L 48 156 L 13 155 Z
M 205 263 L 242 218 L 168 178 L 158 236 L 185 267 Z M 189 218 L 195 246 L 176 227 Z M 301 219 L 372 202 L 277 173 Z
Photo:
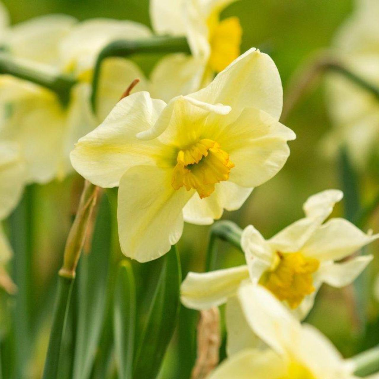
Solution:
M 315 327 L 301 325 L 265 288 L 242 286 L 238 299 L 251 331 L 268 347 L 238 352 L 222 362 L 209 379 L 357 378 L 353 361 L 343 359 Z

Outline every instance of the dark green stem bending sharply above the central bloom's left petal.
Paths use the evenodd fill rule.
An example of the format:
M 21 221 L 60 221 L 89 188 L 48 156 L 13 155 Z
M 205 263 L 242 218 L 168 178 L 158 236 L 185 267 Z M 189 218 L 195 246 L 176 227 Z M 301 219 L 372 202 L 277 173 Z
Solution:
M 92 79 L 91 104 L 96 111 L 96 96 L 99 86 L 101 67 L 105 58 L 112 56 L 129 57 L 135 54 L 153 53 L 191 53 L 184 37 L 153 37 L 135 41 L 119 40 L 106 45 L 97 57 Z

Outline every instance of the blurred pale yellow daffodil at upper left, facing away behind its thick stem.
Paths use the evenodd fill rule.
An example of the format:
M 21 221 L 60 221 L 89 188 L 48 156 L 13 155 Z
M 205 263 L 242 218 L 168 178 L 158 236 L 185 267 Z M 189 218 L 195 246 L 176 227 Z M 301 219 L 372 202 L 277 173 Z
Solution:
M 15 59 L 47 72 L 59 70 L 59 44 L 75 19 L 51 15 L 21 23 L 6 32 L 6 49 Z M 18 143 L 26 162 L 25 182 L 46 183 L 72 171 L 69 152 L 96 125 L 90 86 L 75 85 L 69 104 L 39 85 L 0 76 L 0 139 Z

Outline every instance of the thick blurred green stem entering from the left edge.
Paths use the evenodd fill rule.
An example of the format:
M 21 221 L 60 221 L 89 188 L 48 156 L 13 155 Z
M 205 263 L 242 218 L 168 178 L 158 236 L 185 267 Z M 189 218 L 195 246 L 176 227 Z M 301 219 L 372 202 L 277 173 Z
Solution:
M 57 94 L 64 105 L 69 102 L 70 90 L 76 83 L 76 80 L 69 75 L 49 72 L 35 66 L 31 69 L 24 60 L 14 59 L 6 53 L 0 53 L 0 74 L 13 75 L 50 89 Z

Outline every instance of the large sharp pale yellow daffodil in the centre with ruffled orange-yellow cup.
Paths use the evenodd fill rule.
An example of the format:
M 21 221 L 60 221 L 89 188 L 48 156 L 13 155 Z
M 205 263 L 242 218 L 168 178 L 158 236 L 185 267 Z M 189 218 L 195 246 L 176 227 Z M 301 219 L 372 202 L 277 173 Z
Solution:
M 147 92 L 122 99 L 71 162 L 95 185 L 119 186 L 122 251 L 146 262 L 177 243 L 184 220 L 211 224 L 282 168 L 295 135 L 281 110 L 276 66 L 251 49 L 199 92 L 168 104 Z

